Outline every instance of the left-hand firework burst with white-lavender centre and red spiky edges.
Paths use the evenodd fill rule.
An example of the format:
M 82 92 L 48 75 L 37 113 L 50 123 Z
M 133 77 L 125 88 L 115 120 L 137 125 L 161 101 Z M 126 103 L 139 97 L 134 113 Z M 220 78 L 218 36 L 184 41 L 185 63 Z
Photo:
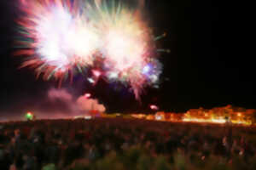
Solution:
M 32 48 L 36 55 L 22 66 L 37 67 L 38 75 L 43 73 L 45 79 L 62 79 L 76 65 L 92 65 L 92 54 L 99 38 L 89 28 L 89 23 L 79 17 L 79 5 L 75 2 L 22 2 L 26 15 L 19 21 L 23 26 L 20 33 L 27 39 L 20 43 L 25 48 Z M 20 53 L 28 54 L 30 51 L 25 49 Z

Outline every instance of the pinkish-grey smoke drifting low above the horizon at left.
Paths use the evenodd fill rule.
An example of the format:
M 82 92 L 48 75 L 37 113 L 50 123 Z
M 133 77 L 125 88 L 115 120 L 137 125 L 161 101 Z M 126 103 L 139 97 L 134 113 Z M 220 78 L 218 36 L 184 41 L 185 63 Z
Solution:
M 45 95 L 27 98 L 7 111 L 0 111 L 0 122 L 25 121 L 25 113 L 31 111 L 37 119 L 71 118 L 84 115 L 91 110 L 105 112 L 106 108 L 88 94 L 76 97 L 67 89 L 50 88 Z

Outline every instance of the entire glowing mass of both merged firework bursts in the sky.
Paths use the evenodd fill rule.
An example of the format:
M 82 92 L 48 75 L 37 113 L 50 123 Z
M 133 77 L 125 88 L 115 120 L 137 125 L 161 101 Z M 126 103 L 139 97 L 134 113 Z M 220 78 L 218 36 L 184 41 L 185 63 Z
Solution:
M 129 84 L 137 99 L 145 86 L 158 82 L 161 65 L 154 41 L 160 37 L 154 38 L 143 20 L 143 0 L 134 8 L 117 0 L 20 2 L 23 38 L 17 54 L 28 56 L 21 66 L 34 68 L 38 77 L 61 82 L 83 67 L 102 65 L 90 82 L 103 77 Z

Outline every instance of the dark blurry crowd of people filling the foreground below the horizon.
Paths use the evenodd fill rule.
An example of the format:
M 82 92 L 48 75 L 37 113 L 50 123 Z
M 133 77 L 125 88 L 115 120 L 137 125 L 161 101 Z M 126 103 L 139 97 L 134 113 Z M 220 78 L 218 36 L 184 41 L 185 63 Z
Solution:
M 256 128 L 123 118 L 0 123 L 1 170 L 256 169 Z

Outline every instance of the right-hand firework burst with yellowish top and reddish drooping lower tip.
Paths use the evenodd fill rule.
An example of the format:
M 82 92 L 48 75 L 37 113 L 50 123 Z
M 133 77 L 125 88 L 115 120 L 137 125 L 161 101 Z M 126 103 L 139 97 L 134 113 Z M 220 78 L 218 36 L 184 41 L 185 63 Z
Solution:
M 102 54 L 106 58 L 108 78 L 110 81 L 119 81 L 131 85 L 137 99 L 143 92 L 143 87 L 151 84 L 152 71 L 143 73 L 148 61 L 154 59 L 150 53 L 154 47 L 153 35 L 146 23 L 142 20 L 141 11 L 143 1 L 139 1 L 139 8 L 131 10 L 122 3 L 96 3 L 98 16 L 96 22 L 102 30 L 104 39 Z M 154 64 L 154 62 L 152 63 Z M 157 65 L 158 66 L 158 65 Z M 148 70 L 155 67 L 148 67 Z M 159 68 L 156 68 L 160 70 Z M 159 74 L 154 75 L 157 82 Z

